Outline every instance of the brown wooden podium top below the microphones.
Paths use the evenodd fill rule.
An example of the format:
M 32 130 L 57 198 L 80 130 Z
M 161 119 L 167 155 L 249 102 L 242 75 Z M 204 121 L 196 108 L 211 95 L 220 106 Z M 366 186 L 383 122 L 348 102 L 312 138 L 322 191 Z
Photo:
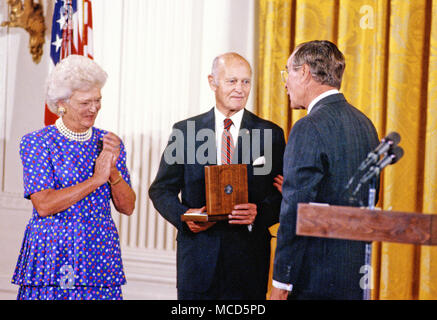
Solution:
M 299 203 L 296 234 L 437 245 L 437 215 Z

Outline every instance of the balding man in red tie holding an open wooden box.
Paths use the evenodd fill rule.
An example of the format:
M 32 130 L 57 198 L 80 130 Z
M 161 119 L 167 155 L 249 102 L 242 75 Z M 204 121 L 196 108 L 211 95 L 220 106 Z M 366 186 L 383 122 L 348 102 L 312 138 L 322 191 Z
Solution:
M 281 203 L 273 179 L 282 174 L 285 140 L 281 128 L 245 110 L 251 78 L 249 63 L 236 53 L 214 60 L 208 80 L 216 106 L 173 126 L 149 189 L 155 208 L 178 230 L 178 299 L 266 298 L 268 228 L 277 223 Z M 213 147 L 205 148 L 199 136 Z M 205 165 L 231 160 L 247 164 L 249 203 L 236 205 L 229 221 L 182 222 L 184 213 L 205 211 Z

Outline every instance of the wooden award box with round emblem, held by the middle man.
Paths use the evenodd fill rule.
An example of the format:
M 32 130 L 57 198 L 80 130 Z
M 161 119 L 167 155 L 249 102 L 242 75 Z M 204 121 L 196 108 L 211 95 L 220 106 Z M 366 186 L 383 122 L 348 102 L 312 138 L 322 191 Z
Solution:
M 185 213 L 182 221 L 227 220 L 235 205 L 248 203 L 247 166 L 206 166 L 205 192 L 206 212 Z

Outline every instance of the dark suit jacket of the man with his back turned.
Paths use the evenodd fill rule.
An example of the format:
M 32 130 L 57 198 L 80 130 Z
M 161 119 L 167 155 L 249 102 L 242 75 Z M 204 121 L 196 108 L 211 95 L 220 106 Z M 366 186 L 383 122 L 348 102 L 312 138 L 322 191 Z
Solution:
M 378 145 L 372 122 L 343 94 L 319 101 L 290 133 L 284 155 L 283 201 L 274 279 L 312 299 L 361 299 L 365 243 L 296 236 L 297 204 L 349 205 L 342 191 Z M 368 190 L 359 198 L 367 203 Z

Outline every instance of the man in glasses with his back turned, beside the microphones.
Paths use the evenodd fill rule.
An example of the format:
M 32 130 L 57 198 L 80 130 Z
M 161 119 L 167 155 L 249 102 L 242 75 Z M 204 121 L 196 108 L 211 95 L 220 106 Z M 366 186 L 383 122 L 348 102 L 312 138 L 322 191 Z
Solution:
M 335 44 L 310 41 L 294 50 L 283 71 L 291 108 L 308 115 L 293 126 L 284 155 L 272 299 L 363 297 L 364 242 L 296 235 L 298 203 L 351 205 L 342 191 L 378 145 L 372 122 L 338 91 L 344 69 Z M 367 201 L 366 191 L 358 198 Z

